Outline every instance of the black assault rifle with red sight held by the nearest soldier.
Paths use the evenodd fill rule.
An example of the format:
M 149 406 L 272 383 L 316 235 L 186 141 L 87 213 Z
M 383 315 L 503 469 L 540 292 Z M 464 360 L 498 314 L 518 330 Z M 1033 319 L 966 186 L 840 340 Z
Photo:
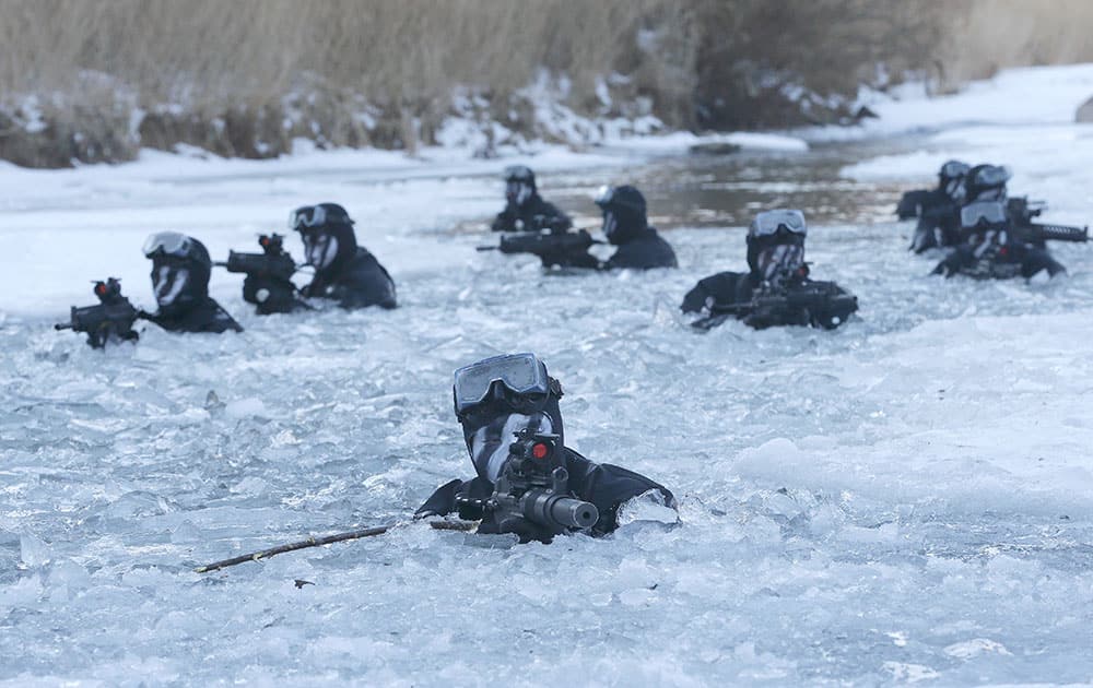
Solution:
M 557 446 L 559 436 L 532 432 L 527 428 L 514 434 L 508 459 L 486 499 L 459 497 L 459 518 L 477 521 L 492 515 L 498 526 L 521 519 L 552 535 L 568 529 L 596 525 L 600 513 L 596 505 L 569 496 L 569 473 Z

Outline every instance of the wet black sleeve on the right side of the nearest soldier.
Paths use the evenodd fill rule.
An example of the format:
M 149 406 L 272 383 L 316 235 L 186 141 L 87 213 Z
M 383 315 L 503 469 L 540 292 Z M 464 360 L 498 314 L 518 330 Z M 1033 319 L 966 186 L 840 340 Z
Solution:
M 659 491 L 667 506 L 677 508 L 675 496 L 663 485 L 620 466 L 592 463 L 572 449 L 566 452 L 569 489 L 578 499 L 596 505 L 600 512 L 592 531 L 610 533 L 619 527 L 619 507 L 649 490 Z

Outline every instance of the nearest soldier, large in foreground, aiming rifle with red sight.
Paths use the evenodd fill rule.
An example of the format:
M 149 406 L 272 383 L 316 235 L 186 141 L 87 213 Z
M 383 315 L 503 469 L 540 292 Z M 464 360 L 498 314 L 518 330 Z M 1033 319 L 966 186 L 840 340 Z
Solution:
M 478 475 L 443 485 L 416 517 L 458 511 L 481 520 L 480 533 L 515 533 L 521 542 L 610 533 L 621 509 L 644 512 L 642 520 L 675 521 L 668 488 L 565 447 L 562 385 L 533 354 L 495 356 L 456 370 L 453 395 Z

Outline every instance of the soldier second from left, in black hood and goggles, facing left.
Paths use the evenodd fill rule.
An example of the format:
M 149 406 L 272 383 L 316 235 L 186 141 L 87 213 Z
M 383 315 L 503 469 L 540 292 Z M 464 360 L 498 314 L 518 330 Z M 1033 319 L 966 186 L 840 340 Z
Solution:
M 337 203 L 297 207 L 289 227 L 304 241 L 307 264 L 315 268 L 312 283 L 301 294 L 328 298 L 342 308 L 395 308 L 395 281 L 376 257 L 356 244 L 353 221 Z

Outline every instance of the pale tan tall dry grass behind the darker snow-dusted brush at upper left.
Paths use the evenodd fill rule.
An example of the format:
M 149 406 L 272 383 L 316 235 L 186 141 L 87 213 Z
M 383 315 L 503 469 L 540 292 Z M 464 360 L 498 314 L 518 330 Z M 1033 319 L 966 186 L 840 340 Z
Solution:
M 453 83 L 526 85 L 540 66 L 604 73 L 666 0 L 3 0 L 0 88 L 119 78 L 142 105 L 269 104 L 309 74 L 380 102 Z M 579 83 L 578 87 L 589 87 Z

